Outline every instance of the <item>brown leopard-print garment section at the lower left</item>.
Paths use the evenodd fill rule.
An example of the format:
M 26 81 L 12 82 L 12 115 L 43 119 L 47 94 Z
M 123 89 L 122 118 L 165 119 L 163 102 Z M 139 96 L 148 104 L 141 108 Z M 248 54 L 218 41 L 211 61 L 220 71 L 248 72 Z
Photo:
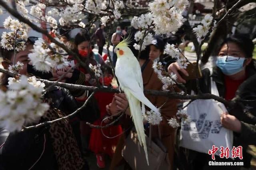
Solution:
M 43 121 L 52 121 L 64 114 L 55 108 L 50 108 L 42 117 Z M 50 126 L 52 146 L 56 156 L 58 170 L 81 170 L 84 166 L 78 144 L 67 119 L 53 123 Z

